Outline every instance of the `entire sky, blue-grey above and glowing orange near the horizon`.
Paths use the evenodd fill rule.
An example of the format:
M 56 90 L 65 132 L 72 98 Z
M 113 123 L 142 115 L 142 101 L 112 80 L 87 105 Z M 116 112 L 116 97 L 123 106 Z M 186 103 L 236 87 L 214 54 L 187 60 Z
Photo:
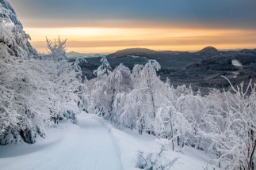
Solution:
M 131 47 L 256 48 L 255 0 L 9 0 L 32 46 L 67 39 L 67 52 Z

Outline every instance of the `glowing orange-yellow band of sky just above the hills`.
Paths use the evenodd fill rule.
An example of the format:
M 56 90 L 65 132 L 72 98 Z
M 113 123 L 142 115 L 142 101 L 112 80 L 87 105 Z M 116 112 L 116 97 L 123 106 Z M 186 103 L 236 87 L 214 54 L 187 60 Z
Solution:
M 152 50 L 197 51 L 206 46 L 217 49 L 256 48 L 256 31 L 242 29 L 189 28 L 24 28 L 32 46 L 46 52 L 45 36 L 67 38 L 67 52 L 111 53 L 131 47 Z

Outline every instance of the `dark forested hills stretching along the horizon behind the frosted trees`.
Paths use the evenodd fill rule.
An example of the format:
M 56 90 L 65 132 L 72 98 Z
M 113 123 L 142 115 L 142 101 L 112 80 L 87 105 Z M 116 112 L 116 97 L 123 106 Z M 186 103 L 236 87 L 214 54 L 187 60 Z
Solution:
M 233 85 L 239 85 L 241 81 L 246 82 L 249 78 L 256 78 L 254 69 L 256 68 L 256 49 L 200 53 L 129 48 L 117 51 L 115 55 L 109 54 L 107 59 L 112 68 L 123 63 L 130 70 L 135 64 L 145 64 L 149 59 L 155 59 L 162 67 L 158 72 L 162 81 L 166 81 L 166 77 L 169 77 L 174 87 L 192 85 L 194 91 L 201 89 L 201 93 L 204 94 L 210 91 L 208 87 L 220 90 L 229 87 L 228 82 L 221 75 L 228 77 Z M 91 69 L 95 70 L 100 65 L 100 58 L 86 58 L 86 60 L 90 64 L 82 69 L 90 79 L 94 77 Z M 235 66 L 232 60 L 239 61 L 243 66 Z

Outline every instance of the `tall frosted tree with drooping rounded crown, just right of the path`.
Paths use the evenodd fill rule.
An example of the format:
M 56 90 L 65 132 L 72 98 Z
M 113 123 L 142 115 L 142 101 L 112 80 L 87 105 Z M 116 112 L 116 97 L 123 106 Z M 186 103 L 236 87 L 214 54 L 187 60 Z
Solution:
M 120 117 L 120 126 L 136 127 L 143 131 L 155 133 L 154 121 L 156 111 L 163 102 L 161 89 L 164 83 L 156 75 L 160 69 L 159 62 L 148 61 L 144 66 L 136 65 L 132 70 L 134 89 L 131 93 L 119 93 L 115 100 L 115 111 Z

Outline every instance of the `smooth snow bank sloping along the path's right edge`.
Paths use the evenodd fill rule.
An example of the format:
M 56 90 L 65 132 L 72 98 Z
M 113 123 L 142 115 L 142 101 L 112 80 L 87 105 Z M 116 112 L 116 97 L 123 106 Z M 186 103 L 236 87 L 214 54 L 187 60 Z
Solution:
M 159 140 L 155 136 L 149 134 L 140 135 L 136 130 L 124 129 L 117 130 L 112 128 L 112 133 L 120 147 L 121 161 L 124 170 L 138 169 L 136 167 L 136 153 L 138 150 L 145 153 L 159 152 Z M 188 169 L 203 169 L 208 164 L 208 169 L 212 169 L 210 157 L 203 151 L 185 146 L 183 153 L 176 152 L 178 145 L 174 146 L 175 151 L 172 151 L 171 144 L 166 147 L 166 157 L 170 160 L 178 157 L 178 163 L 170 169 L 188 170 Z M 218 169 L 218 168 L 216 168 Z

